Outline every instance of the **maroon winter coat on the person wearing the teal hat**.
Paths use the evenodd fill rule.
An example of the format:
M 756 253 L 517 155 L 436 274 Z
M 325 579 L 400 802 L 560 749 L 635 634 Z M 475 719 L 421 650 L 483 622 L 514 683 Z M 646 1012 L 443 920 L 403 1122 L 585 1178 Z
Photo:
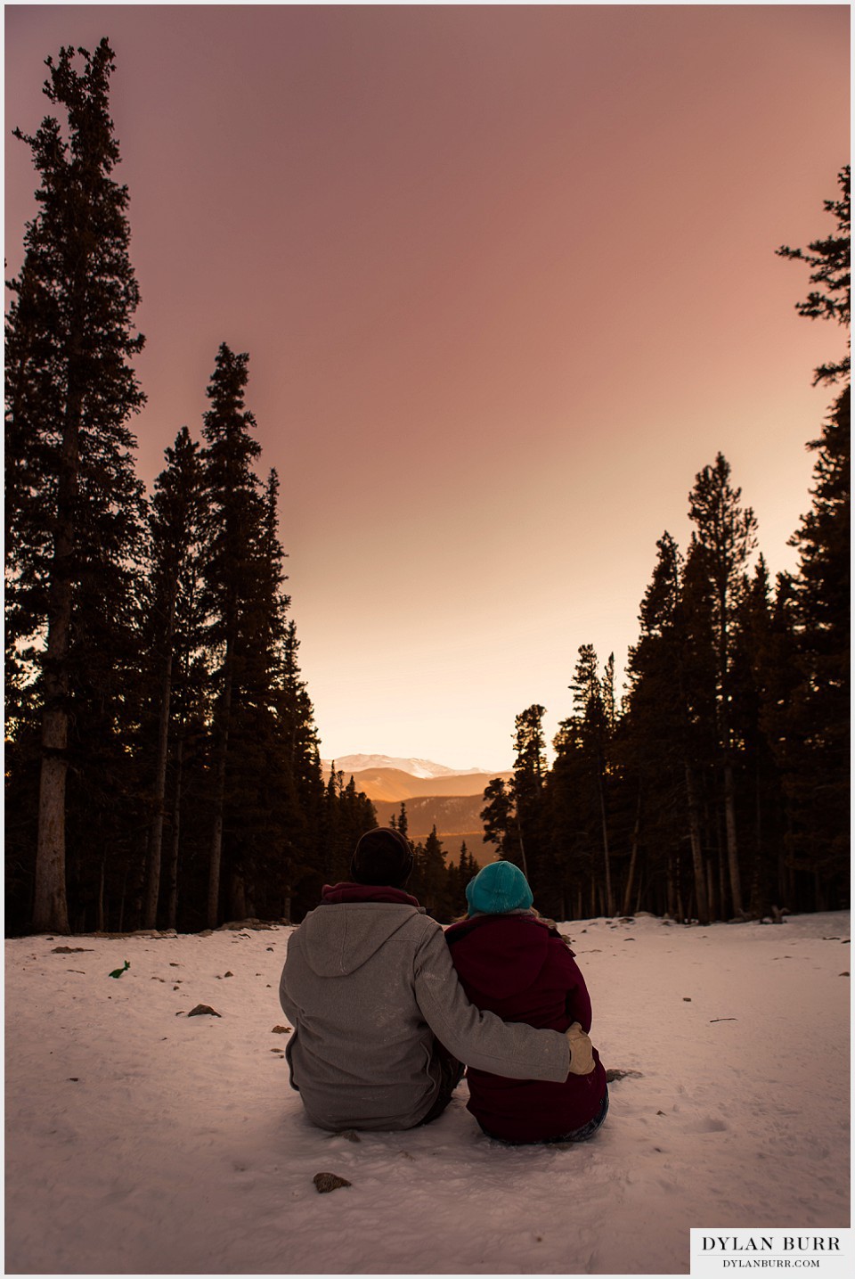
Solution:
M 506 1022 L 590 1031 L 590 999 L 564 939 L 533 914 L 479 914 L 446 929 L 466 995 Z M 505 1141 L 546 1141 L 582 1128 L 599 1114 L 606 1072 L 594 1049 L 590 1074 L 564 1083 L 506 1079 L 466 1071 L 469 1105 L 481 1127 Z

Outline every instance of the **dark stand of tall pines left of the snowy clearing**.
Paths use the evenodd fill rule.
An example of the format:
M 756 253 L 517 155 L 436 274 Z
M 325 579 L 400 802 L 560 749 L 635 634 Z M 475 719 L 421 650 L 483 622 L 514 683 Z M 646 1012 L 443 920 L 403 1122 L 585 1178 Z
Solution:
M 6 313 L 6 925 L 299 916 L 376 816 L 322 776 L 248 356 L 220 345 L 147 495 L 114 55 L 46 65 L 63 119 L 15 130 L 41 185 Z

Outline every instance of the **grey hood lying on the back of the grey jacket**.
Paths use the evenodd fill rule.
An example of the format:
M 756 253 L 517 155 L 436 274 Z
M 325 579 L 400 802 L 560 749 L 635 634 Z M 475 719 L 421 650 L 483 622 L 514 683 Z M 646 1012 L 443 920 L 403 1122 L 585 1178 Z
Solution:
M 357 886 L 357 885 L 353 885 Z M 325 894 L 326 897 L 326 894 Z M 397 893 L 397 900 L 325 900 L 311 911 L 298 932 L 303 954 L 318 977 L 341 977 L 368 963 L 414 914 L 424 914 L 414 898 Z

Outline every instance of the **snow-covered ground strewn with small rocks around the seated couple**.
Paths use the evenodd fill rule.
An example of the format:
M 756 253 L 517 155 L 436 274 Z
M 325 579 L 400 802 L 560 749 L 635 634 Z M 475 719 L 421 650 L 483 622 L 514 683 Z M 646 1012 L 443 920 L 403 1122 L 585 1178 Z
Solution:
M 691 1227 L 846 1225 L 849 914 L 561 927 L 640 1072 L 569 1147 L 491 1142 L 465 1083 L 424 1128 L 313 1128 L 289 929 L 6 941 L 6 1273 L 674 1274 Z

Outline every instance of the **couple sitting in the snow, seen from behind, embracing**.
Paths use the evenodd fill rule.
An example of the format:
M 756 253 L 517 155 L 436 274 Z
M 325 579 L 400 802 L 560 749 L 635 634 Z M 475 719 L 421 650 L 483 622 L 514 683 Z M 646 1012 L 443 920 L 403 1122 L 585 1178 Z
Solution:
M 404 891 L 412 870 L 400 831 L 368 831 L 353 883 L 325 888 L 291 934 L 280 1000 L 309 1119 L 332 1131 L 429 1123 L 465 1062 L 468 1109 L 489 1137 L 593 1136 L 608 1092 L 590 1000 L 523 872 L 486 866 L 466 886 L 466 918 L 443 931 Z

